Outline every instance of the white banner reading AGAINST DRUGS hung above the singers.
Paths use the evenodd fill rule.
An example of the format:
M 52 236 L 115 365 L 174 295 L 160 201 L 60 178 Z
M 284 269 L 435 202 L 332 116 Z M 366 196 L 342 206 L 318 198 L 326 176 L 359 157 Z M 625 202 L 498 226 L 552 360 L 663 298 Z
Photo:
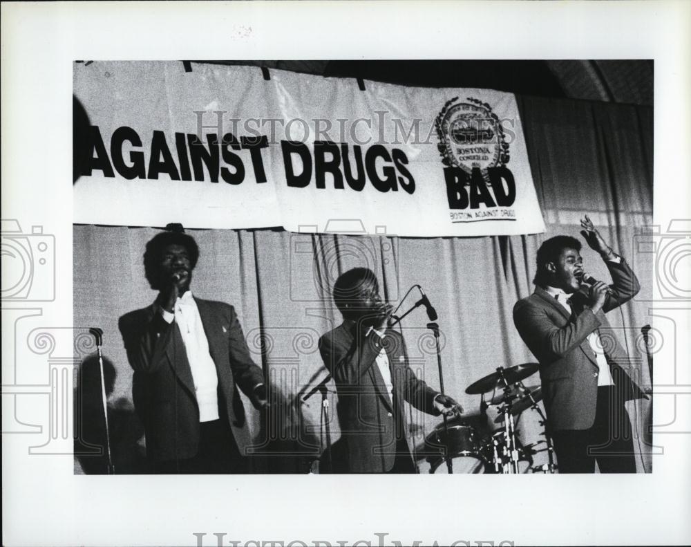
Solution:
M 351 79 L 191 68 L 75 64 L 88 116 L 75 139 L 75 223 L 545 231 L 511 93 L 370 81 L 361 91 Z

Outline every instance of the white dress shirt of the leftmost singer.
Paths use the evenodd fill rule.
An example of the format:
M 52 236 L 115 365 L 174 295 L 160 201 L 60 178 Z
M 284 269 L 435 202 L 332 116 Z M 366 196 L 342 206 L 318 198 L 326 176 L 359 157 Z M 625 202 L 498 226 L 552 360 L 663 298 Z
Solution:
M 173 313 L 158 306 L 163 319 L 178 324 L 184 342 L 184 351 L 187 353 L 189 368 L 194 380 L 194 394 L 199 405 L 199 421 L 210 422 L 218 420 L 218 376 L 216 364 L 209 353 L 209 340 L 204 332 L 202 317 L 192 297 L 187 290 L 176 300 Z

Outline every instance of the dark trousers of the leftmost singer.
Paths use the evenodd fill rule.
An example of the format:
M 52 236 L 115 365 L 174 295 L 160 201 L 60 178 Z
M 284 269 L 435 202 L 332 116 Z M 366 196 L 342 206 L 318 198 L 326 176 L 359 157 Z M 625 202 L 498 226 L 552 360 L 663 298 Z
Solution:
M 158 474 L 247 473 L 247 460 L 240 454 L 230 426 L 223 420 L 199 424 L 199 451 L 193 458 L 154 463 Z

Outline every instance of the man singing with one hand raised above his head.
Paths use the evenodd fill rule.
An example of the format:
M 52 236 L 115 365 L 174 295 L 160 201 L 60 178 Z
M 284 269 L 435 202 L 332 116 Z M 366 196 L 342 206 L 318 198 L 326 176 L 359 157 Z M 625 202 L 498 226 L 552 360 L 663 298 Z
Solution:
M 635 473 L 623 403 L 645 395 L 625 372 L 628 355 L 605 313 L 632 299 L 640 286 L 587 215 L 581 226 L 614 283 L 585 274 L 578 239 L 553 237 L 538 249 L 535 292 L 515 304 L 513 322 L 540 362 L 559 472 L 593 473 L 597 461 L 600 472 Z

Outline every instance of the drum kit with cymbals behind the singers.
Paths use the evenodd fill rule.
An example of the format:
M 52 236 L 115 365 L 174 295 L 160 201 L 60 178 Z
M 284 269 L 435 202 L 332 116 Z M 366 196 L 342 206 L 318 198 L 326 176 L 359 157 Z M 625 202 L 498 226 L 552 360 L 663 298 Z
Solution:
M 481 414 L 489 407 L 495 407 L 498 416 L 493 420 L 500 424 L 489 435 L 482 436 L 475 427 L 461 421 L 442 424 L 426 436 L 423 450 L 416 451 L 426 456 L 430 473 L 554 473 L 553 447 L 547 434 L 547 418 L 538 406 L 542 399 L 542 389 L 525 386 L 523 380 L 538 371 L 538 364 L 525 363 L 513 367 L 498 367 L 495 372 L 480 378 L 466 388 L 469 395 L 482 396 Z M 484 396 L 492 392 L 486 402 Z M 500 393 L 495 395 L 495 393 Z M 533 409 L 540 417 L 544 440 L 523 445 L 515 430 L 514 416 L 527 409 Z M 545 444 L 544 448 L 536 449 Z M 547 452 L 547 463 L 533 465 L 533 456 Z M 446 465 L 444 465 L 446 464 Z M 451 464 L 451 465 L 450 465 Z

